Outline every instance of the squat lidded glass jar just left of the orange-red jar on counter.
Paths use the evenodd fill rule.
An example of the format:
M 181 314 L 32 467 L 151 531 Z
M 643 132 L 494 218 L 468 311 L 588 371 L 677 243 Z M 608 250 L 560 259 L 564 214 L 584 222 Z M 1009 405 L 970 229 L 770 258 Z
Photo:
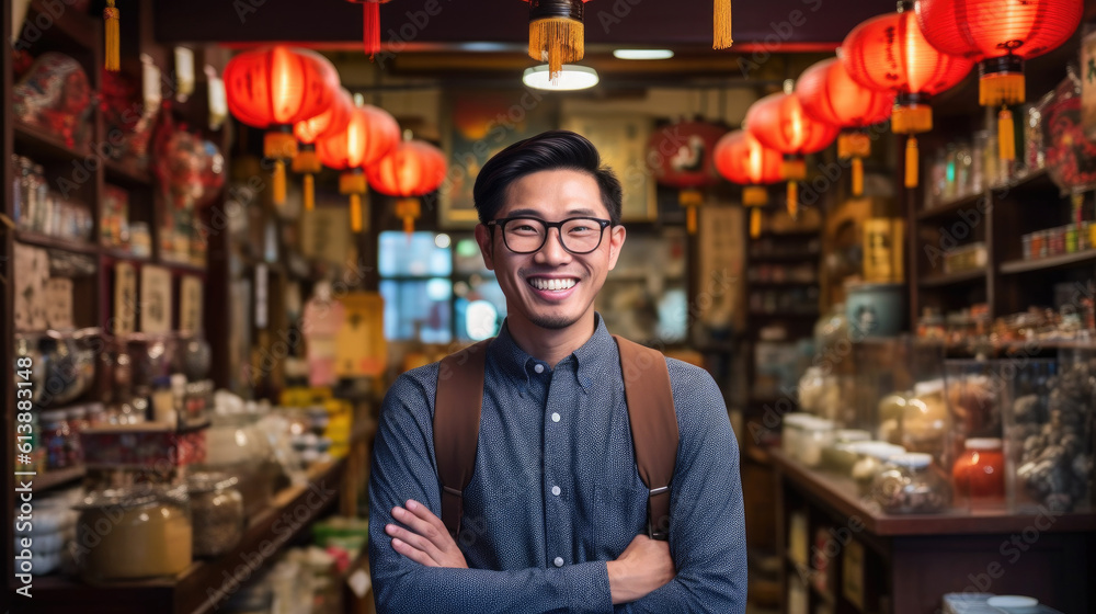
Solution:
M 951 487 L 928 454 L 892 456 L 871 481 L 871 498 L 891 514 L 939 512 L 951 502 Z

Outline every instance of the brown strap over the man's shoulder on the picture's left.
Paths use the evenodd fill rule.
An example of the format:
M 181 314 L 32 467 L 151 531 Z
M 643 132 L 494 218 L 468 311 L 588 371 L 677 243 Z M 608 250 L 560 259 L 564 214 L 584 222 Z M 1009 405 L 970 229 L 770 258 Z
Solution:
M 490 339 L 442 359 L 434 400 L 434 455 L 442 486 L 442 522 L 454 539 L 460 532 L 464 491 L 476 469 L 483 368 Z

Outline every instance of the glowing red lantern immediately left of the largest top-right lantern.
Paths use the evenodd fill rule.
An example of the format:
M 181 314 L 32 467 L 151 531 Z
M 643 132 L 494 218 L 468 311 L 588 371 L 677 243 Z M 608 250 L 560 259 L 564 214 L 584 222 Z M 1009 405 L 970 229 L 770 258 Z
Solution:
M 955 87 L 973 62 L 941 54 L 928 44 L 916 15 L 900 4 L 857 25 L 845 36 L 838 57 L 848 75 L 864 87 L 898 94 L 891 113 L 894 134 L 911 135 L 905 143 L 905 185 L 917 185 L 917 139 L 933 129 L 929 98 Z

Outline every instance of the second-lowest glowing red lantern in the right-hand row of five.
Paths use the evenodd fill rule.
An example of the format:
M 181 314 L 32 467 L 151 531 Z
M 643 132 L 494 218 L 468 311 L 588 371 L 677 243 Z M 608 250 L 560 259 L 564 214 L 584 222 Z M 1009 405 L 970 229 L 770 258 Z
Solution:
M 791 93 L 769 94 L 754 102 L 743 124 L 762 145 L 784 154 L 788 213 L 795 217 L 799 208 L 798 182 L 807 179 L 804 157 L 829 147 L 837 137 L 837 127 L 808 115 L 799 98 Z

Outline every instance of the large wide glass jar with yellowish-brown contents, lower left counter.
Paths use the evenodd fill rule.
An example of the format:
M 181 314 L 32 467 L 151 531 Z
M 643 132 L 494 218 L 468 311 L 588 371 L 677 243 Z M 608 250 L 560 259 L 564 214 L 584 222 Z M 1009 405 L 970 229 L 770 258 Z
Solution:
M 102 490 L 76 509 L 77 568 L 87 582 L 170 577 L 191 565 L 193 528 L 184 488 Z

